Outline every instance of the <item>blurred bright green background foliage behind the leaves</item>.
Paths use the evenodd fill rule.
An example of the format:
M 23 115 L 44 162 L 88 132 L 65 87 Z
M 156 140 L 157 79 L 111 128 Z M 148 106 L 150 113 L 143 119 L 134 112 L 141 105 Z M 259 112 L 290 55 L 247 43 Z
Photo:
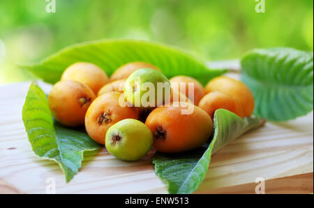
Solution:
M 254 47 L 313 50 L 313 0 L 265 0 L 265 13 L 255 0 L 56 0 L 56 13 L 47 3 L 0 0 L 0 84 L 31 78 L 15 63 L 106 38 L 175 45 L 204 60 Z

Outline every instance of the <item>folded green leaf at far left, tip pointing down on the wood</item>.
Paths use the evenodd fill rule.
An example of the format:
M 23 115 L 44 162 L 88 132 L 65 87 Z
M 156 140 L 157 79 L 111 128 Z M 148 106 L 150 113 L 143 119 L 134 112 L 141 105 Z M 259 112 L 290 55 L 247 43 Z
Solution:
M 81 168 L 84 151 L 100 149 L 86 133 L 54 124 L 45 93 L 36 84 L 29 87 L 22 119 L 34 153 L 57 162 L 67 182 Z

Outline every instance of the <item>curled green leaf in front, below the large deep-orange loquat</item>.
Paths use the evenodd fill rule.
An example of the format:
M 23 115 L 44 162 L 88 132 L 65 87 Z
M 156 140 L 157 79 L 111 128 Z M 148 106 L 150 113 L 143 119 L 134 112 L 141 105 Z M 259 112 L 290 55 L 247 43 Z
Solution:
M 156 174 L 167 182 L 169 193 L 193 193 L 202 183 L 211 155 L 225 144 L 264 124 L 257 117 L 241 119 L 227 110 L 216 110 L 214 136 L 210 144 L 181 154 L 156 152 L 153 158 Z

